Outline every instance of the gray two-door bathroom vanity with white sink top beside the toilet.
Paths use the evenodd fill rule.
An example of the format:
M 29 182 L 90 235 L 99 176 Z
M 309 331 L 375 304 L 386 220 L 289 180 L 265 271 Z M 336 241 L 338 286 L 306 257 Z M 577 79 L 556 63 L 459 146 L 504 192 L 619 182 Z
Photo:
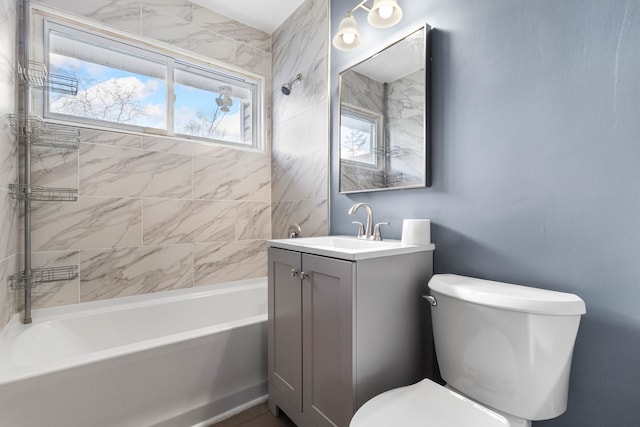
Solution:
M 348 427 L 373 396 L 433 377 L 433 245 L 351 237 L 269 242 L 269 408 Z

